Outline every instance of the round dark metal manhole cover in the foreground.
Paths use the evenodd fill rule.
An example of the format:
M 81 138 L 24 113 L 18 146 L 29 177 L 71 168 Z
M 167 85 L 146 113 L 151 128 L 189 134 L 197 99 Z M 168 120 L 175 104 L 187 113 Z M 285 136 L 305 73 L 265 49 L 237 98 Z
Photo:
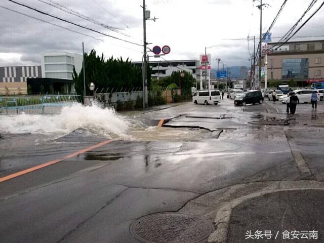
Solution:
M 146 243 L 205 242 L 213 231 L 211 222 L 182 213 L 148 215 L 131 226 L 131 234 Z

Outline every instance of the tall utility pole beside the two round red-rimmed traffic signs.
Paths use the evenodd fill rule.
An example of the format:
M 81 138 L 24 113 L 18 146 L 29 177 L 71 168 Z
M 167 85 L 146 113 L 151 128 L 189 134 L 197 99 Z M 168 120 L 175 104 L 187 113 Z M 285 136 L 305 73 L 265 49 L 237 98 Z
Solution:
M 145 5 L 145 0 L 143 0 L 143 103 L 144 107 L 148 106 L 148 98 L 147 98 L 147 71 L 146 71 L 146 66 L 147 66 L 147 60 L 146 60 L 146 5 Z

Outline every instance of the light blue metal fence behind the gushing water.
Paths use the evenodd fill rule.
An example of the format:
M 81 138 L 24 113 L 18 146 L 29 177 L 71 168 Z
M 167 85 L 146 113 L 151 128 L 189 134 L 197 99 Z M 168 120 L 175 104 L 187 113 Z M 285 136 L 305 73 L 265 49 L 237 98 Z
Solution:
M 0 114 L 57 114 L 62 107 L 80 100 L 79 95 L 0 97 Z

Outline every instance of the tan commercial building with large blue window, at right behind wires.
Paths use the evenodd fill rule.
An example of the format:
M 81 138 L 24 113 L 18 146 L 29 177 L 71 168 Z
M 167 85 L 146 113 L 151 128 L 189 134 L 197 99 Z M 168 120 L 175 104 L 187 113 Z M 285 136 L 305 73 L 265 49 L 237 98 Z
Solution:
M 274 50 L 279 43 L 269 43 Z M 305 87 L 324 77 L 324 40 L 289 42 L 267 56 L 267 80 L 288 83 L 294 79 L 299 87 Z M 265 63 L 263 57 L 263 64 Z M 264 79 L 262 80 L 264 83 Z

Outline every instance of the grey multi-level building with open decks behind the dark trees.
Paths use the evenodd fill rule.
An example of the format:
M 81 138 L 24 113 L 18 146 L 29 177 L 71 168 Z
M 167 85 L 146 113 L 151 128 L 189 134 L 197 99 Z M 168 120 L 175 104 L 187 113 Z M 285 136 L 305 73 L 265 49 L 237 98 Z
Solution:
M 135 66 L 142 66 L 142 62 L 132 62 Z M 170 76 L 174 71 L 186 71 L 192 74 L 196 80 L 200 80 L 199 60 L 176 61 L 149 61 L 152 68 L 152 77 L 160 78 Z

